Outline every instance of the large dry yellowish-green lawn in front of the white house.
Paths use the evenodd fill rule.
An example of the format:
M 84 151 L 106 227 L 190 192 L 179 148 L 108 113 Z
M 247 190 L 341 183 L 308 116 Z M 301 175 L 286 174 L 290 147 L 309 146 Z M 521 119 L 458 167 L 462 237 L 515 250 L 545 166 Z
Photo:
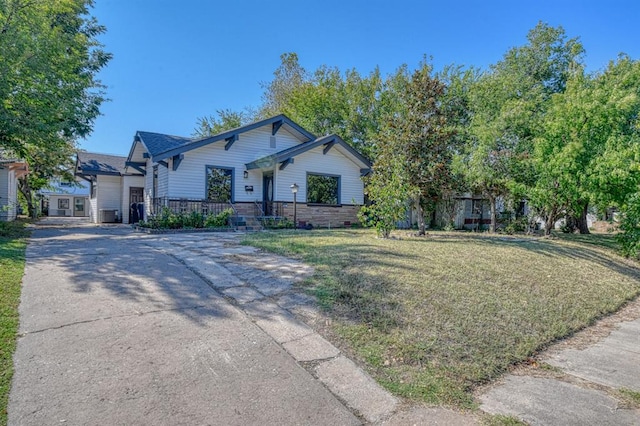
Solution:
M 481 384 L 640 294 L 640 268 L 572 238 L 281 231 L 245 243 L 315 266 L 334 336 L 397 395 L 472 407 Z M 604 246 L 604 247 L 603 247 Z

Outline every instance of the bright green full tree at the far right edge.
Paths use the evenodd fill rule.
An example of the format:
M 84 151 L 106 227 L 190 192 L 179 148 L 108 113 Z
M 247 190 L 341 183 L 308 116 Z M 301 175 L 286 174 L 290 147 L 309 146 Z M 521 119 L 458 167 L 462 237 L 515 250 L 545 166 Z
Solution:
M 640 62 L 623 56 L 595 75 L 577 66 L 553 96 L 536 138 L 532 201 L 546 212 L 547 230 L 560 216 L 589 233 L 587 208 L 622 206 L 640 176 Z

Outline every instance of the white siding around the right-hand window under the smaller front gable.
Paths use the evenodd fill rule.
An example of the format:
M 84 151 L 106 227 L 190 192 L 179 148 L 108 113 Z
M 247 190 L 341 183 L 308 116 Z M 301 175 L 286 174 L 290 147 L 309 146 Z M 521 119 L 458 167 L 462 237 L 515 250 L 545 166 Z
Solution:
M 293 201 L 291 185 L 298 184 L 297 200 L 307 201 L 307 173 L 340 176 L 340 203 L 363 204 L 364 184 L 360 178 L 360 166 L 342 155 L 337 149 L 331 149 L 326 155 L 324 146 L 319 146 L 295 157 L 293 164 L 284 170 L 276 169 L 276 193 L 278 201 Z

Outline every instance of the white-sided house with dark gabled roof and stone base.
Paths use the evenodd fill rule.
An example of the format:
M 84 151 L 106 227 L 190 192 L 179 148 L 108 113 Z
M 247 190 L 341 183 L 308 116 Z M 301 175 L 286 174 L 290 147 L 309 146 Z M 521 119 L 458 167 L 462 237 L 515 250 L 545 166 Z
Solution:
M 216 202 L 243 217 L 293 219 L 295 184 L 298 222 L 321 227 L 357 221 L 370 168 L 340 137 L 318 138 L 284 115 L 199 139 L 139 131 L 126 159 L 127 172 L 144 175 L 147 216 Z

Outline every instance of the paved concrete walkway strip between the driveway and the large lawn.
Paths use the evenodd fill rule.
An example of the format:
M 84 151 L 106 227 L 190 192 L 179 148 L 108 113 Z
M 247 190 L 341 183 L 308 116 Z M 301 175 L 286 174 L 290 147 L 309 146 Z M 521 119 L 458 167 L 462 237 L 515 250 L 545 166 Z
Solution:
M 319 315 L 313 298 L 295 286 L 313 274 L 313 268 L 252 247 L 237 250 L 237 235 L 233 234 L 190 238 L 171 235 L 154 238 L 150 243 L 231 298 L 297 362 L 314 363 L 311 373 L 360 418 L 375 423 L 394 415 L 398 399 L 301 320 Z M 176 246 L 181 250 L 175 250 Z M 207 255 L 200 254 L 205 252 Z M 227 272 L 211 273 L 220 269 L 234 278 L 220 280 L 219 276 Z

